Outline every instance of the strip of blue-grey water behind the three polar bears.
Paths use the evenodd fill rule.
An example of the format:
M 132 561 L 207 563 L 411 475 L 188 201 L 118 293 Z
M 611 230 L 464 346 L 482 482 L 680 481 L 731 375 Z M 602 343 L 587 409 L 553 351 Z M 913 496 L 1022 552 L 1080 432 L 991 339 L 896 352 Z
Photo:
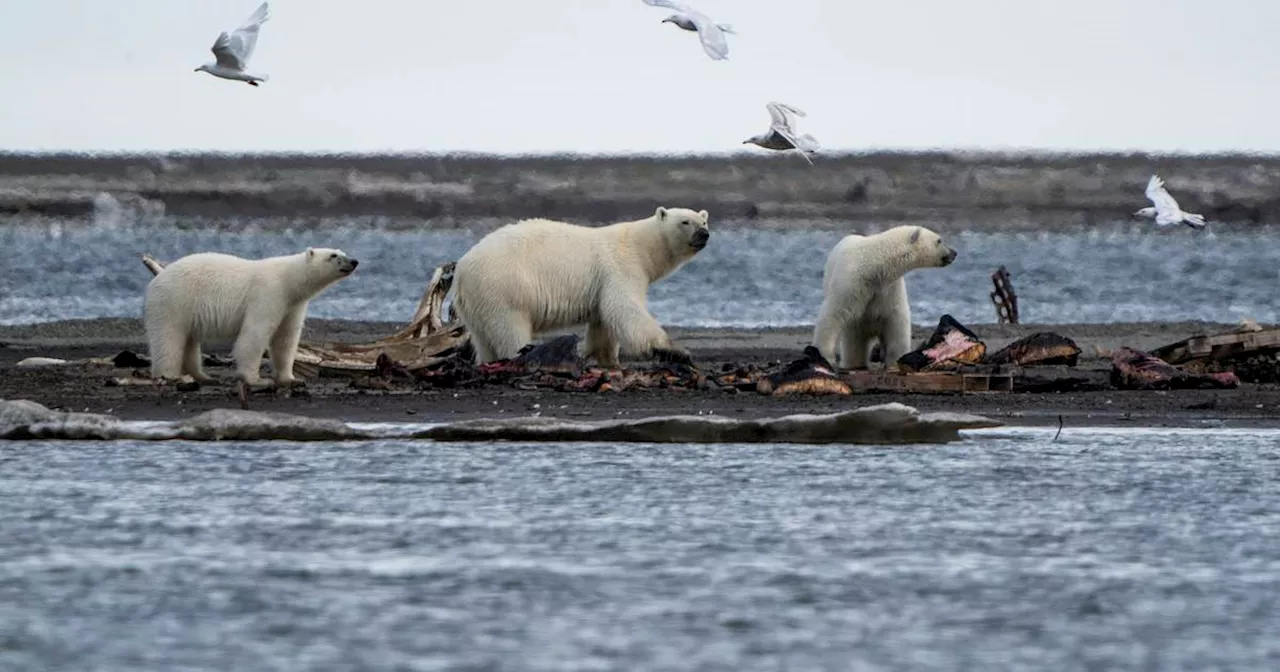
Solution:
M 431 270 L 458 259 L 484 229 L 387 230 L 374 221 L 282 229 L 275 221 L 164 225 L 10 225 L 0 228 L 0 324 L 70 317 L 140 316 L 163 261 L 201 251 L 248 257 L 340 247 L 361 260 L 357 275 L 311 305 L 311 316 L 408 319 Z M 659 321 L 680 326 L 813 324 L 827 252 L 849 230 L 714 229 L 710 246 L 650 291 Z M 991 273 L 1005 265 L 1024 323 L 1115 323 L 1253 317 L 1280 321 L 1275 234 L 1224 228 L 1156 230 L 1117 221 L 1083 233 L 961 233 L 945 270 L 908 275 L 918 324 L 950 312 L 991 323 Z

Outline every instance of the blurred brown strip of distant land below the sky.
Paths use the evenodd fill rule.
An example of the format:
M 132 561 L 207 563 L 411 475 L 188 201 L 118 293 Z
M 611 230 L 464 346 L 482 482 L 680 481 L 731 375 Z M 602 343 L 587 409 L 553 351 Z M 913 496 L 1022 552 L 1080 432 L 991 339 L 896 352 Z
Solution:
M 662 204 L 707 209 L 727 225 L 927 221 L 943 230 L 1061 230 L 1114 225 L 1147 205 L 1143 189 L 1156 172 L 1187 210 L 1213 221 L 1280 223 L 1280 157 L 922 152 L 824 155 L 813 166 L 762 154 L 0 154 L 0 224 L 13 215 L 76 218 L 124 207 L 142 216 L 275 216 L 288 225 L 296 218 L 357 216 L 447 228 L 486 218 L 618 221 Z

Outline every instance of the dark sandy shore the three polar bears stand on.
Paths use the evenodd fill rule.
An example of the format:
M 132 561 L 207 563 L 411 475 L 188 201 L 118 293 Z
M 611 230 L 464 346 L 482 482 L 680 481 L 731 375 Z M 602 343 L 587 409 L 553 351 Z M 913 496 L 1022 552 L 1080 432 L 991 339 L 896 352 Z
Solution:
M 308 340 L 361 342 L 385 335 L 396 323 L 310 320 Z M 1096 348 L 1130 346 L 1149 349 L 1183 338 L 1221 332 L 1233 325 L 1206 323 L 1084 324 L 1084 325 L 969 325 L 991 351 L 1036 332 L 1050 330 L 1076 340 L 1084 351 L 1082 367 L 1108 369 Z M 915 339 L 931 328 L 916 328 Z M 704 371 L 726 362 L 764 365 L 790 361 L 808 343 L 809 328 L 783 329 L 681 329 L 672 337 L 689 347 Z M 0 398 L 26 398 L 52 408 L 109 412 L 131 420 L 172 420 L 211 408 L 237 408 L 234 387 L 210 385 L 180 393 L 172 388 L 106 387 L 125 376 L 127 369 L 70 366 L 18 369 L 24 357 L 110 357 L 122 349 L 145 353 L 143 332 L 136 319 L 101 319 L 0 326 Z M 227 348 L 210 352 L 227 355 Z M 643 365 L 641 365 L 643 366 Z M 230 380 L 228 369 L 209 372 Z M 567 393 L 522 390 L 511 387 L 470 389 L 353 389 L 347 380 L 308 381 L 293 396 L 255 396 L 251 408 L 360 422 L 444 421 L 517 415 L 575 419 L 643 417 L 669 413 L 716 413 L 730 417 L 764 417 L 797 412 L 835 412 L 890 401 L 922 411 L 961 411 L 1009 425 L 1071 426 L 1234 426 L 1280 428 L 1280 387 L 1242 385 L 1231 390 L 1079 392 L 1061 394 L 855 394 L 852 397 L 765 397 L 722 390 L 626 390 L 621 393 Z

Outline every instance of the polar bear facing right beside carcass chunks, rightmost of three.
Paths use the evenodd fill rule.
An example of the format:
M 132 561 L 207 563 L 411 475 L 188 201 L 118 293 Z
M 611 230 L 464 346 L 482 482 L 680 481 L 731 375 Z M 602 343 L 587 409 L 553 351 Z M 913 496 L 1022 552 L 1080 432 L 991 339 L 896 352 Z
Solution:
M 911 305 L 906 298 L 910 270 L 941 268 L 956 251 L 924 227 L 895 227 L 842 238 L 827 255 L 822 271 L 822 308 L 814 346 L 840 367 L 867 369 L 879 340 L 886 367 L 911 349 Z

